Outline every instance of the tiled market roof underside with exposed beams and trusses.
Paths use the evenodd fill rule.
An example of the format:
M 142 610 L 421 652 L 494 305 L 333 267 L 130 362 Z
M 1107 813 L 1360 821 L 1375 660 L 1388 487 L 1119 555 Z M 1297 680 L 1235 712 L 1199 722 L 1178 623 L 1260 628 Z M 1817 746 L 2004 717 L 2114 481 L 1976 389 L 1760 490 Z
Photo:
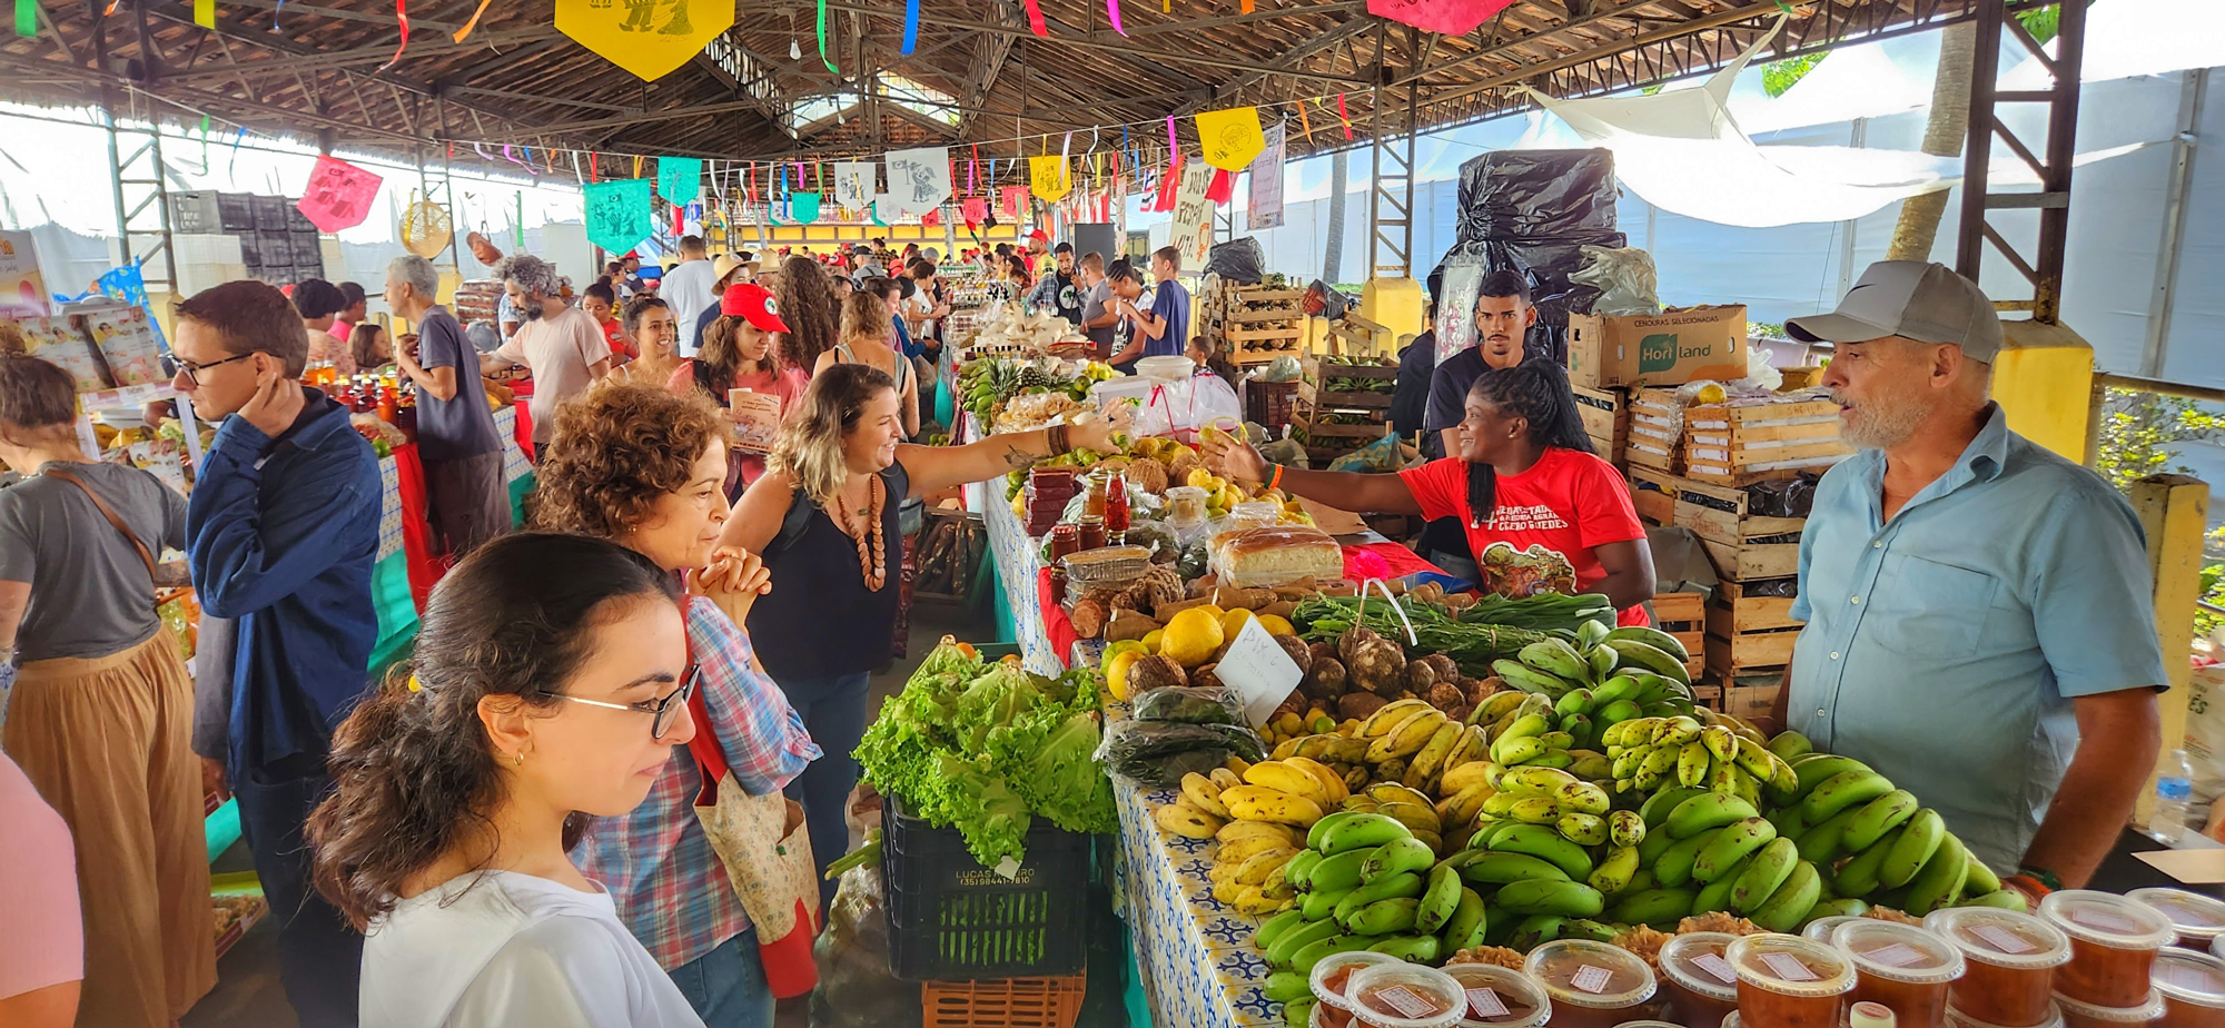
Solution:
M 1462 38 L 1411 31 L 1366 13 L 1366 0 L 1041 0 L 1050 36 L 1028 31 L 1012 0 L 923 2 L 914 53 L 897 51 L 901 0 L 828 0 L 834 76 L 817 53 L 805 0 L 748 4 L 701 56 L 641 82 L 558 33 L 552 0 L 494 4 L 465 42 L 449 33 L 476 0 L 418 0 L 398 42 L 385 0 L 220 0 L 216 29 L 174 0 L 38 0 L 40 33 L 0 42 L 0 98 L 105 105 L 118 116 L 194 127 L 240 125 L 396 158 L 476 158 L 474 142 L 605 154 L 599 174 L 630 174 L 625 154 L 725 160 L 874 156 L 917 145 L 979 142 L 983 158 L 1039 151 L 1019 136 L 1150 122 L 1199 109 L 1277 105 L 1290 154 L 1346 147 L 1375 131 L 1437 129 L 1549 96 L 1602 96 L 1709 71 L 1773 24 L 1776 0 L 1517 0 Z M 1776 53 L 1922 31 L 1967 18 L 1976 0 L 1807 0 Z M 2023 0 L 2011 7 L 2023 7 Z M 790 60 L 799 42 L 803 58 Z M 859 98 L 857 69 L 950 96 L 957 125 L 881 98 Z M 1377 85 L 1382 89 L 1377 89 Z M 837 100 L 794 131 L 790 105 Z M 1290 100 L 1311 105 L 1311 140 Z M 1268 111 L 1275 116 L 1275 111 Z M 1164 140 L 1164 129 L 1137 129 Z M 1055 147 L 1057 142 L 1052 142 Z M 1077 142 L 1077 151 L 1079 151 Z M 538 162 L 538 160 L 536 160 Z M 558 160 L 558 174 L 572 169 Z M 630 165 L 627 165 L 630 167 Z

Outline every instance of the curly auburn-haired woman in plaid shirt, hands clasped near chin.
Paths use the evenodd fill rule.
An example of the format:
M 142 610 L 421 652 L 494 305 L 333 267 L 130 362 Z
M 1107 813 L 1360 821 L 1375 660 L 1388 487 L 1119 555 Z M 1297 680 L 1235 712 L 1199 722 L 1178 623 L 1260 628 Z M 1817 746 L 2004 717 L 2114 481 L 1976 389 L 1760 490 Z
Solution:
M 745 792 L 768 797 L 819 748 L 741 630 L 770 581 L 756 556 L 719 547 L 728 434 L 703 396 L 599 383 L 556 414 L 536 469 L 534 527 L 607 538 L 688 576 L 688 643 L 710 716 L 696 728 L 712 732 Z M 674 745 L 650 799 L 599 819 L 572 857 L 610 888 L 619 917 L 708 1024 L 770 1026 L 756 932 L 694 814 L 701 785 L 694 754 Z

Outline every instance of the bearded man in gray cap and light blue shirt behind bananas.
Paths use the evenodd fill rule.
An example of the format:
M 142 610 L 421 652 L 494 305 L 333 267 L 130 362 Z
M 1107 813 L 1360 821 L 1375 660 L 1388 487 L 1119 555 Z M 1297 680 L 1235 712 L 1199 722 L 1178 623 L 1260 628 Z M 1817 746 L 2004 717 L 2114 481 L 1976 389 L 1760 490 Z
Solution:
M 2000 318 L 1951 269 L 1880 260 L 1787 332 L 1836 345 L 1822 380 L 1860 452 L 1800 534 L 1778 721 L 1936 808 L 2011 886 L 2085 886 L 2156 765 L 2140 521 L 2009 432 L 1987 398 Z

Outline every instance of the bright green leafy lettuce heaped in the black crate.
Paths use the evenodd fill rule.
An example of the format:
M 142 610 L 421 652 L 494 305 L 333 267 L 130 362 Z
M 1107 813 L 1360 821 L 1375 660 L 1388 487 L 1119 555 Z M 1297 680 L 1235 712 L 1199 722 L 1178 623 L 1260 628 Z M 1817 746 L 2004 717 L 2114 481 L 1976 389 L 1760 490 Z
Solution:
M 943 641 L 859 741 L 868 781 L 937 828 L 957 828 L 983 868 L 1026 859 L 1032 817 L 1115 832 L 1112 781 L 1097 763 L 1097 676 L 1057 679 L 1017 661 L 983 665 Z

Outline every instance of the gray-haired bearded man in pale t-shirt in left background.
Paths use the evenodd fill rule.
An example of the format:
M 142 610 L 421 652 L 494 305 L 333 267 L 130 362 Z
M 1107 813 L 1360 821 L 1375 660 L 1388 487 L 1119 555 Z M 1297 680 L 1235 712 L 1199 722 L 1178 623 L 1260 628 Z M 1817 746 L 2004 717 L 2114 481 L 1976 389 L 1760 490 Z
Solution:
M 603 329 L 578 307 L 567 307 L 558 294 L 556 267 L 532 254 L 514 254 L 494 265 L 503 291 L 525 318 L 518 332 L 492 354 L 481 354 L 481 374 L 494 376 L 525 365 L 534 376 L 534 447 L 556 429 L 556 405 L 594 385 L 610 372 L 610 345 Z

